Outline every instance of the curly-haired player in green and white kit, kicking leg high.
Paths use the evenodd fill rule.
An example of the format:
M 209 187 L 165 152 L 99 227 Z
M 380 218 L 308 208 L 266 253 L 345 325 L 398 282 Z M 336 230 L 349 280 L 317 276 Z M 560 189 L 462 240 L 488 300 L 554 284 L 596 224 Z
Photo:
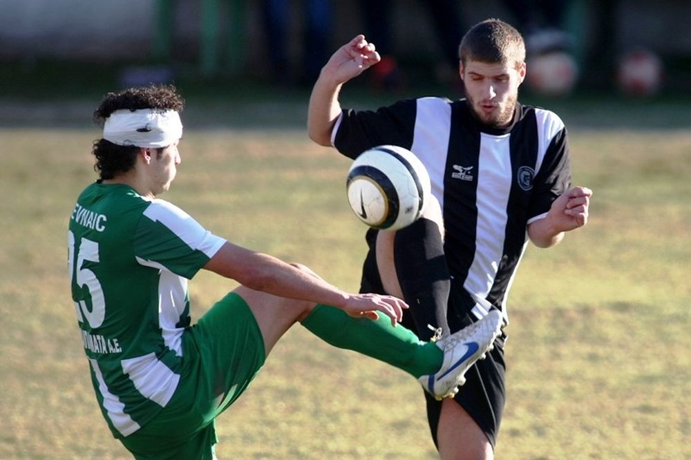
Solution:
M 436 343 L 397 325 L 407 305 L 348 294 L 302 265 L 207 231 L 167 191 L 180 164 L 183 101 L 172 86 L 108 93 L 94 114 L 100 178 L 68 230 L 72 298 L 102 414 L 140 459 L 214 457 L 216 416 L 240 396 L 294 323 L 413 375 L 437 398 L 498 333 L 499 314 Z M 240 283 L 194 325 L 187 282 L 200 269 Z M 335 382 L 334 382 L 335 385 Z

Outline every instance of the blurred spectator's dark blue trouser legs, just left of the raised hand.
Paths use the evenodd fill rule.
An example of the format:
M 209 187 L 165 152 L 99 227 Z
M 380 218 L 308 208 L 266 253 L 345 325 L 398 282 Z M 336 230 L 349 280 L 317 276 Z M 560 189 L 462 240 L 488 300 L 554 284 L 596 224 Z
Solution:
M 328 59 L 331 30 L 331 1 L 305 0 L 305 35 L 303 66 L 293 72 L 290 68 L 288 46 L 290 37 L 290 0 L 263 0 L 262 17 L 266 30 L 269 59 L 272 65 L 272 79 L 283 85 L 312 85 L 319 76 L 321 66 Z

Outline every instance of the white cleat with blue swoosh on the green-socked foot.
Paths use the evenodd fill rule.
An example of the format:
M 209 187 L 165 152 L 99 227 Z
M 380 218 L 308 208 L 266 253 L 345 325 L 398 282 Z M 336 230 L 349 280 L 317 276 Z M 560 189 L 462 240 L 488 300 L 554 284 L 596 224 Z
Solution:
M 502 323 L 501 312 L 491 309 L 481 320 L 436 341 L 435 345 L 444 351 L 444 362 L 436 374 L 418 378 L 422 387 L 437 400 L 453 398 L 458 387 L 466 383 L 466 371 L 494 348 Z

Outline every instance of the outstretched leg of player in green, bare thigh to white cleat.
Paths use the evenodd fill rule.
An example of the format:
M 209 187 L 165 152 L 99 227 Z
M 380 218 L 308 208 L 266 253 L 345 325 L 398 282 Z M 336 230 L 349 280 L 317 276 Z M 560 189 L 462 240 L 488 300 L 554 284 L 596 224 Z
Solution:
M 408 372 L 437 398 L 457 392 L 468 367 L 492 347 L 501 323 L 499 315 L 488 315 L 438 343 L 430 343 L 420 341 L 401 325 L 392 325 L 383 314 L 377 320 L 354 318 L 335 307 L 272 296 L 247 287 L 238 287 L 235 292 L 252 310 L 267 354 L 287 329 L 300 321 L 331 345 L 352 349 Z

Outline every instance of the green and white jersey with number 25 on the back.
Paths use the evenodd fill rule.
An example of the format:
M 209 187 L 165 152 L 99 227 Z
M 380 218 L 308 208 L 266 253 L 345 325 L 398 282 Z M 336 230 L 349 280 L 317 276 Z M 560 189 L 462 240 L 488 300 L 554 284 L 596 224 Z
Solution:
M 190 325 L 187 280 L 225 240 L 181 209 L 95 183 L 70 218 L 68 269 L 97 400 L 115 437 L 167 405 Z

